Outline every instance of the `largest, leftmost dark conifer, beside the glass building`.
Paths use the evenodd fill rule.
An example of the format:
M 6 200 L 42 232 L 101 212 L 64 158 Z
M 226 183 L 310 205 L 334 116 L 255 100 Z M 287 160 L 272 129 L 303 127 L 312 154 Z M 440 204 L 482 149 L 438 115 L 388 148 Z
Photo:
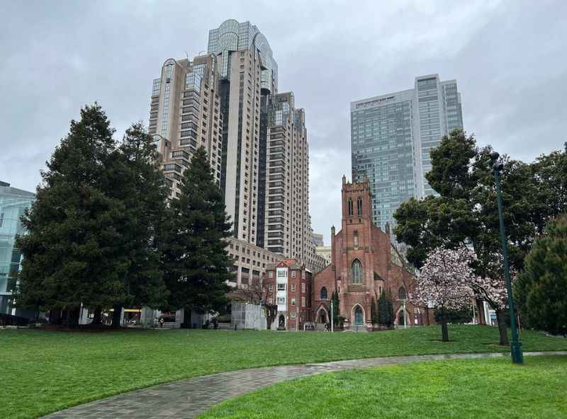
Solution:
M 81 110 L 55 149 L 35 202 L 23 217 L 23 254 L 17 301 L 21 306 L 67 309 L 123 301 L 128 260 L 120 253 L 123 202 L 105 193 L 115 149 L 113 129 L 97 104 Z

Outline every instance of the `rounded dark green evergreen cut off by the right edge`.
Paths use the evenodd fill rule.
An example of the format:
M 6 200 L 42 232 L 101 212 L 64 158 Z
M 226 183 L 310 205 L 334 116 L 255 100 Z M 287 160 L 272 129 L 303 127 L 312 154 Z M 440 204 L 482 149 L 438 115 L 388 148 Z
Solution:
M 514 295 L 529 327 L 567 335 L 567 215 L 549 222 L 535 241 Z

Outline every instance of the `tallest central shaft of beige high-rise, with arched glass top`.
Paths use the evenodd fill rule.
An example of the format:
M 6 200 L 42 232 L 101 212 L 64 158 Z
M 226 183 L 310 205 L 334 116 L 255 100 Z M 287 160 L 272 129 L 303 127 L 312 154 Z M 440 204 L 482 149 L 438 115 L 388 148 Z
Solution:
M 260 130 L 263 103 L 277 92 L 278 66 L 268 41 L 249 22 L 224 21 L 210 30 L 208 52 L 218 59 L 219 91 L 223 113 L 221 187 L 227 213 L 237 239 L 263 246 L 258 224 L 261 147 L 266 132 Z M 264 143 L 261 146 L 261 142 Z M 263 186 L 263 185 L 262 185 Z

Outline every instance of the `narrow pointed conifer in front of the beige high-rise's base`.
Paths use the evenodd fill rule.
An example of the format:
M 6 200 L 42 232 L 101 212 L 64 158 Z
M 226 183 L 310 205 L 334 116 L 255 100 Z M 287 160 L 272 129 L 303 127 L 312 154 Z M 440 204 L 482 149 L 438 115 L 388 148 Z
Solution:
M 164 268 L 169 303 L 186 311 L 213 313 L 226 304 L 232 260 L 225 251 L 231 223 L 223 196 L 199 148 L 181 178 L 181 195 L 169 206 Z

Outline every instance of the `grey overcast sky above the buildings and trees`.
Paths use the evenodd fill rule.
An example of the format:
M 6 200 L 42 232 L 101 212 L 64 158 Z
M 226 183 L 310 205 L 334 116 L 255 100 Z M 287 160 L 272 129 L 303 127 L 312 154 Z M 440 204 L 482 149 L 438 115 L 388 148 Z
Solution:
M 264 33 L 279 91 L 305 108 L 310 212 L 329 243 L 350 177 L 349 103 L 456 79 L 479 144 L 531 161 L 567 141 L 567 1 L 1 1 L 0 180 L 35 190 L 85 103 L 117 138 L 147 122 L 165 59 L 206 51 L 227 18 Z

